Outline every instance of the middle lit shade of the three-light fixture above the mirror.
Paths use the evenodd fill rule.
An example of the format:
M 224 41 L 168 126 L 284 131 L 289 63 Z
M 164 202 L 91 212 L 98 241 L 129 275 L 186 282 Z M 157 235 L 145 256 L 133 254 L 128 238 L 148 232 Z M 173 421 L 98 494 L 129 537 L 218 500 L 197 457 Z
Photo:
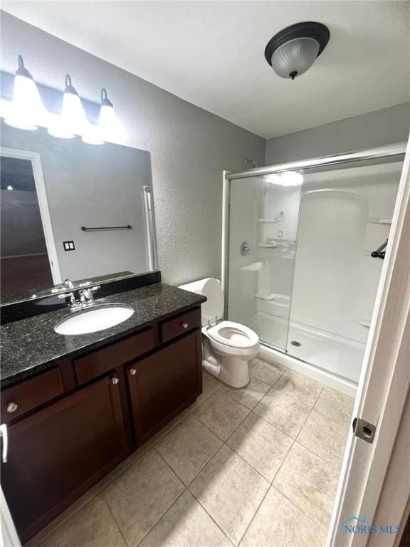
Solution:
M 65 89 L 63 95 L 63 108 L 61 115 L 53 117 L 53 123 L 48 127 L 48 132 L 54 137 L 62 139 L 73 138 L 74 135 L 83 135 L 88 128 L 88 120 L 85 116 L 81 99 L 77 90 L 71 83 L 69 74 L 65 76 Z

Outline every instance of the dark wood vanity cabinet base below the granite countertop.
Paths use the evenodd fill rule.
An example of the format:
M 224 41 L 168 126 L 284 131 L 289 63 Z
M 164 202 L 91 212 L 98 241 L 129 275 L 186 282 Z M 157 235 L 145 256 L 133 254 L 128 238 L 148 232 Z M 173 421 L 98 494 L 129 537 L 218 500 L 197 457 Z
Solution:
M 26 541 L 202 391 L 194 308 L 4 390 L 1 486 Z

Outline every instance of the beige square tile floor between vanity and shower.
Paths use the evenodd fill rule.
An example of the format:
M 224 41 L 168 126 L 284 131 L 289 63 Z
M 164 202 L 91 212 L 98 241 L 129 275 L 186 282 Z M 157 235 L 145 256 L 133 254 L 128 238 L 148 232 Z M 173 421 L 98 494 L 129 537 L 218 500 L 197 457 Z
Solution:
M 204 392 L 31 541 L 36 547 L 320 547 L 353 399 L 255 358 Z

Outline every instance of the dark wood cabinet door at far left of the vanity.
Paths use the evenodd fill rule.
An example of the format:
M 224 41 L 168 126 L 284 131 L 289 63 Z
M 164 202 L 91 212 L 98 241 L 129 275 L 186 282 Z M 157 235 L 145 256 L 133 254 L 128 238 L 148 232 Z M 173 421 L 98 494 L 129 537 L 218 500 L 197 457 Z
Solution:
M 9 427 L 1 486 L 21 540 L 125 457 L 117 377 L 105 377 Z

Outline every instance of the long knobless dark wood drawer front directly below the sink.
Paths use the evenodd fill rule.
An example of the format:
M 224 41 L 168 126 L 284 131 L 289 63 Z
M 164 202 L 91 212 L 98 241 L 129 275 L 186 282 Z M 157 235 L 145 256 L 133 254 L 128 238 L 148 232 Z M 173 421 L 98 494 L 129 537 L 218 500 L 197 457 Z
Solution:
M 78 383 L 84 384 L 89 380 L 93 380 L 108 370 L 112 370 L 118 365 L 132 361 L 143 353 L 154 348 L 154 330 L 147 328 L 141 333 L 134 334 L 109 345 L 107 348 L 94 351 L 90 355 L 85 355 L 79 359 L 75 359 L 75 373 Z

